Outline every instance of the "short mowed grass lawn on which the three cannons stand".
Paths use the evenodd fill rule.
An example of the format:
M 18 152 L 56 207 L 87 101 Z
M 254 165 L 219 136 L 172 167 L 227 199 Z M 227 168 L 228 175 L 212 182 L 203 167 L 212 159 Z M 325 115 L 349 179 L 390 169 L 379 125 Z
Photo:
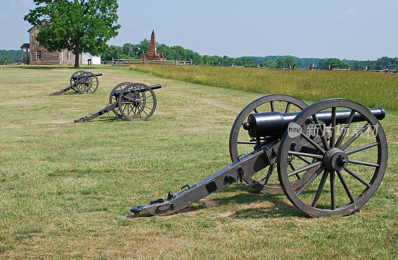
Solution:
M 128 68 L 82 69 L 103 73 L 97 92 L 49 96 L 69 85 L 74 68 L 0 66 L 1 258 L 397 258 L 397 112 L 382 121 L 386 175 L 357 214 L 308 218 L 283 194 L 233 184 L 208 197 L 216 207 L 195 203 L 186 213 L 127 219 L 132 206 L 228 165 L 232 123 L 261 95 Z M 296 74 L 297 82 L 307 81 L 307 73 L 319 72 Z M 336 75 L 331 82 L 344 81 L 343 74 L 330 75 Z M 377 76 L 381 86 L 390 77 Z M 104 107 L 124 81 L 162 85 L 148 121 L 105 114 L 73 122 Z

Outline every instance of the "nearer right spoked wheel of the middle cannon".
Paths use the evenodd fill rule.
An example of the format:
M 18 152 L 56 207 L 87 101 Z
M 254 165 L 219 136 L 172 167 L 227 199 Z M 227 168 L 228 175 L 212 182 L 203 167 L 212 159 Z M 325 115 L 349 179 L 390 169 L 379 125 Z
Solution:
M 130 84 L 120 93 L 118 106 L 119 112 L 129 121 L 147 120 L 156 109 L 155 92 L 145 84 Z

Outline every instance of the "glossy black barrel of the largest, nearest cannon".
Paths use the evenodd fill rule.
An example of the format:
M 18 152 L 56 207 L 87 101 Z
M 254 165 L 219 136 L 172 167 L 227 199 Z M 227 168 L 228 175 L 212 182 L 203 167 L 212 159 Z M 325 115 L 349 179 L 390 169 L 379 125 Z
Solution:
M 378 120 L 382 120 L 386 116 L 386 111 L 382 107 L 369 109 Z M 337 110 L 336 124 L 345 124 L 350 116 L 351 110 Z M 289 123 L 295 119 L 298 113 L 281 112 L 265 112 L 250 114 L 247 123 L 243 124 L 243 128 L 249 131 L 251 137 L 277 136 L 282 135 L 288 128 Z M 326 125 L 330 125 L 332 121 L 332 111 L 320 111 L 316 113 L 319 121 L 323 121 Z M 312 117 L 310 118 L 312 120 Z M 358 112 L 355 113 L 352 122 L 361 122 L 364 118 Z

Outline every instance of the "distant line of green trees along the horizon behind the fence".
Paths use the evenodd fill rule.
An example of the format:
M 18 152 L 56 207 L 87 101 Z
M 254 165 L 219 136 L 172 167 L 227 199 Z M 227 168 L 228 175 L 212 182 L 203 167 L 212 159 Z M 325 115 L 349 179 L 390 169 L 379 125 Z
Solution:
M 110 45 L 101 55 L 101 60 L 111 61 L 114 59 L 138 59 L 142 53 L 147 53 L 149 50 L 150 41 L 144 39 L 138 44 L 125 43 L 122 46 Z M 226 65 L 231 66 L 247 66 L 256 67 L 260 65 L 266 68 L 289 68 L 289 66 L 296 66 L 296 68 L 309 67 L 311 64 L 318 68 L 327 68 L 329 65 L 335 69 L 347 69 L 351 70 L 365 70 L 369 67 L 370 70 L 381 70 L 383 67 L 398 68 L 398 58 L 389 58 L 387 56 L 378 58 L 377 60 L 340 60 L 337 58 L 299 58 L 291 55 L 269 55 L 265 57 L 260 56 L 242 56 L 238 58 L 231 58 L 228 56 L 217 56 L 217 55 L 200 55 L 193 50 L 186 49 L 182 46 L 167 46 L 163 43 L 156 43 L 157 50 L 159 53 L 163 52 L 163 55 L 167 60 L 192 60 L 196 64 L 208 64 L 208 65 Z M 20 50 L 0 50 L 0 62 L 6 59 L 7 62 L 20 62 Z

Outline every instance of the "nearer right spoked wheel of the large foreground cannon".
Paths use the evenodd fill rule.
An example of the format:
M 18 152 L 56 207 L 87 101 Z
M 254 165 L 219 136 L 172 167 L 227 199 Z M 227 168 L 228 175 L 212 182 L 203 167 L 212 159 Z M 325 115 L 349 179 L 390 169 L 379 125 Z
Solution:
M 347 108 L 351 110 L 351 114 L 344 127 L 340 128 L 335 121 L 336 110 Z M 331 110 L 330 130 L 322 126 L 322 122 L 319 123 L 315 115 L 324 110 Z M 351 122 L 355 112 L 362 115 L 364 122 Z M 321 145 L 313 145 L 317 152 L 301 156 L 314 159 L 315 162 L 304 167 L 311 167 L 316 171 L 304 185 L 295 190 L 291 178 L 294 172 L 287 167 L 286 158 L 296 153 L 292 143 L 298 137 L 289 134 L 289 130 L 293 130 L 291 128 L 295 126 L 300 129 L 311 117 L 315 125 L 318 125 L 316 131 L 322 142 Z M 387 166 L 387 140 L 379 120 L 369 109 L 354 101 L 326 99 L 303 109 L 294 123 L 297 125 L 290 125 L 282 137 L 277 157 L 278 176 L 289 200 L 315 217 L 333 214 L 344 216 L 364 205 L 379 187 Z M 327 134 L 330 139 L 326 138 Z M 298 132 L 300 138 L 306 139 L 308 135 L 311 134 Z M 296 170 L 300 171 L 303 168 Z

